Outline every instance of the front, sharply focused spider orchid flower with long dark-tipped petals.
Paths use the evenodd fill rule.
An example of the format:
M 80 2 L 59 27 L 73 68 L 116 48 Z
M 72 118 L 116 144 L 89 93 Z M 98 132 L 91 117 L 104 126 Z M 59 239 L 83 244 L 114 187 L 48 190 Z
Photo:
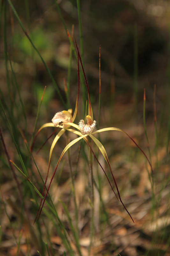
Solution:
M 76 44 L 76 46 L 77 46 L 77 44 Z M 78 47 L 77 47 L 77 51 L 78 51 Z M 116 194 L 115 194 L 115 196 L 117 197 L 118 200 L 120 200 L 120 202 L 122 203 L 122 205 L 123 205 L 123 207 L 125 208 L 126 212 L 129 214 L 130 218 L 132 219 L 130 213 L 128 212 L 128 210 L 126 209 L 125 205 L 124 205 L 123 202 L 122 202 L 122 199 L 121 199 L 121 196 L 120 196 L 120 193 L 119 193 L 119 189 L 118 189 L 118 186 L 117 186 L 115 177 L 114 177 L 114 175 L 113 175 L 113 172 L 112 172 L 112 169 L 111 169 L 111 165 L 110 165 L 110 163 L 109 163 L 109 159 L 108 159 L 106 150 L 105 150 L 104 146 L 102 145 L 102 143 L 101 143 L 98 139 L 96 139 L 93 135 L 94 135 L 94 134 L 97 134 L 97 133 L 100 133 L 100 132 L 106 132 L 106 131 L 119 131 L 119 132 L 123 132 L 123 133 L 125 133 L 125 134 L 135 143 L 135 145 L 141 150 L 141 152 L 144 154 L 144 156 L 145 156 L 146 159 L 148 160 L 150 166 L 151 166 L 151 163 L 150 163 L 148 157 L 145 155 L 144 151 L 137 145 L 137 143 L 136 143 L 126 132 L 122 131 L 121 129 L 115 128 L 115 127 L 108 127 L 108 128 L 103 128 L 103 129 L 100 129 L 100 130 L 98 130 L 98 131 L 93 132 L 93 130 L 94 130 L 95 126 L 96 126 L 96 121 L 95 121 L 95 120 L 92 121 L 92 120 L 93 120 L 93 113 L 92 113 L 92 106 L 91 106 L 91 102 L 90 102 L 89 87 L 88 87 L 88 83 L 87 83 L 87 79 L 86 79 L 86 76 L 85 76 L 85 71 L 84 71 L 84 68 L 83 68 L 83 64 L 82 64 L 82 60 L 81 60 L 79 51 L 78 51 L 78 58 L 79 58 L 79 60 L 80 60 L 80 62 L 81 62 L 81 66 L 82 66 L 83 73 L 84 73 L 84 77 L 85 77 L 85 84 L 86 84 L 87 91 L 88 91 L 88 115 L 86 116 L 86 123 L 87 123 L 87 124 L 85 124 L 85 122 L 84 122 L 83 119 L 81 119 L 81 120 L 79 121 L 78 125 L 77 125 L 77 124 L 74 124 L 74 123 L 70 123 L 70 122 L 68 122 L 68 123 L 63 122 L 64 125 L 68 125 L 68 126 L 66 126 L 66 128 L 65 128 L 66 130 L 68 130 L 69 132 L 73 132 L 74 134 L 77 134 L 79 137 L 78 137 L 77 139 L 75 139 L 75 140 L 72 140 L 72 141 L 64 148 L 64 150 L 63 150 L 63 152 L 62 152 L 62 154 L 61 154 L 61 156 L 60 156 L 60 158 L 59 158 L 59 160 L 58 160 L 58 163 L 57 163 L 57 165 L 56 165 L 56 167 L 55 167 L 55 171 L 54 171 L 54 173 L 53 173 L 53 176 L 52 176 L 52 178 L 51 178 L 50 184 L 49 184 L 49 186 L 48 186 L 47 193 L 46 193 L 46 195 L 45 195 L 45 197 L 44 197 L 44 200 L 43 200 L 41 209 L 39 208 L 39 210 L 40 210 L 40 211 L 38 212 L 38 213 L 39 213 L 39 216 L 38 216 L 38 214 L 37 214 L 38 219 L 39 219 L 39 217 L 40 217 L 40 215 L 41 215 L 41 211 L 42 211 L 43 205 L 44 205 L 44 203 L 45 203 L 46 197 L 47 197 L 47 195 L 48 195 L 48 191 L 49 191 L 51 182 L 52 182 L 52 180 L 53 180 L 53 178 L 54 178 L 55 172 L 56 172 L 56 170 L 57 170 L 57 168 L 58 168 L 58 165 L 60 164 L 60 161 L 61 161 L 61 159 L 62 159 L 64 153 L 65 153 L 71 146 L 73 146 L 75 143 L 77 143 L 79 140 L 84 139 L 85 142 L 88 144 L 90 150 L 92 151 L 93 155 L 94 155 L 94 152 L 93 152 L 93 150 L 92 150 L 92 147 L 91 147 L 91 145 L 89 144 L 89 142 L 88 142 L 88 140 L 87 140 L 87 138 L 86 138 L 87 136 L 89 136 L 89 137 L 94 141 L 94 143 L 97 145 L 97 147 L 99 148 L 100 152 L 102 153 L 104 159 L 106 160 L 107 165 L 108 165 L 108 167 L 109 167 L 109 169 L 110 169 L 112 178 L 113 178 L 113 180 L 114 180 L 115 187 L 116 187 L 116 190 L 117 190 L 117 194 L 118 194 L 119 199 L 118 199 L 118 197 L 116 196 Z M 79 68 L 78 68 L 78 79 L 79 79 Z M 65 112 L 64 112 L 64 113 L 65 113 Z M 68 115 L 67 115 L 67 118 L 68 118 Z M 66 118 L 66 119 L 67 119 L 67 118 Z M 66 120 L 66 119 L 64 119 L 64 120 Z M 70 126 L 73 126 L 73 127 L 76 128 L 77 130 L 70 129 L 69 125 L 70 125 Z M 97 157 L 96 157 L 95 155 L 94 155 L 94 157 L 96 158 L 97 162 L 99 163 Z M 100 164 L 100 163 L 99 163 L 99 164 Z M 100 167 L 102 168 L 101 164 L 100 164 Z M 152 166 L 151 166 L 151 169 L 152 169 Z M 102 168 L 102 170 L 104 171 L 103 168 Z M 107 180 L 108 180 L 108 182 L 109 182 L 109 184 L 110 184 L 110 187 L 112 188 L 111 182 L 109 181 L 109 179 L 108 179 L 107 174 L 106 174 L 105 171 L 104 171 L 104 173 L 105 173 L 106 178 L 107 178 Z M 114 191 L 113 188 L 112 188 L 112 190 L 113 190 L 113 192 L 115 193 L 115 191 Z M 133 221 L 133 219 L 132 219 L 132 221 Z M 134 221 L 133 221 L 133 222 L 134 222 Z

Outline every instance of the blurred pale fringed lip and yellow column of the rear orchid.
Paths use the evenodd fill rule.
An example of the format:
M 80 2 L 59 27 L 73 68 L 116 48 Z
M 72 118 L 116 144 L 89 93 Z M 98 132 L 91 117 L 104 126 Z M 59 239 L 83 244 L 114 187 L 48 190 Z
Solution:
M 68 111 L 63 110 L 63 111 L 57 112 L 52 119 L 54 126 L 57 126 L 60 123 L 71 122 L 72 121 L 71 112 L 72 112 L 72 109 L 68 109 Z M 66 124 L 63 124 L 63 128 L 65 128 L 66 126 L 67 126 Z

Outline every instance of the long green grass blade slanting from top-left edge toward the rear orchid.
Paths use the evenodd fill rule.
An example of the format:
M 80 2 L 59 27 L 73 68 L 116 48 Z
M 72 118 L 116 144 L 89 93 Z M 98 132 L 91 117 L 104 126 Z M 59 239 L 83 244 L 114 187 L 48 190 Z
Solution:
M 63 97 L 62 97 L 62 95 L 61 95 L 61 92 L 60 92 L 60 90 L 59 90 L 59 88 L 58 88 L 58 85 L 56 84 L 56 82 L 55 82 L 55 80 L 54 80 L 54 77 L 52 76 L 52 74 L 51 74 L 51 72 L 50 72 L 50 70 L 49 70 L 49 68 L 48 68 L 48 66 L 47 66 L 47 64 L 46 64 L 46 62 L 45 62 L 44 59 L 42 58 L 42 56 L 41 56 L 40 52 L 38 51 L 38 49 L 36 48 L 36 46 L 33 44 L 33 41 L 31 40 L 30 36 L 28 35 L 28 33 L 27 33 L 27 31 L 26 31 L 26 28 L 25 28 L 24 25 L 22 24 L 22 22 L 21 22 L 21 20 L 20 20 L 20 18 L 19 18 L 19 16 L 18 16 L 18 14 L 17 14 L 17 12 L 16 12 L 16 10 L 15 10 L 13 4 L 11 3 L 10 0 L 7 0 L 7 1 L 8 1 L 8 3 L 9 3 L 9 5 L 11 6 L 12 11 L 14 12 L 15 17 L 17 18 L 17 20 L 18 20 L 18 22 L 19 22 L 19 25 L 21 26 L 23 32 L 25 33 L 26 37 L 28 38 L 28 40 L 29 40 L 30 43 L 32 44 L 32 46 L 33 46 L 33 48 L 35 49 L 35 51 L 38 53 L 38 55 L 39 55 L 41 61 L 43 62 L 44 66 L 45 66 L 45 68 L 46 68 L 46 70 L 47 70 L 47 72 L 48 72 L 48 75 L 50 76 L 50 78 L 51 78 L 51 80 L 52 80 L 52 83 L 53 83 L 53 85 L 54 85 L 54 87 L 55 87 L 55 89 L 56 89 L 56 91 L 57 91 L 57 93 L 58 93 L 58 95 L 59 95 L 59 97 L 60 97 L 60 100 L 62 101 L 63 105 L 66 107 L 66 104 L 65 104 L 65 102 L 64 102 L 64 100 L 63 100 Z

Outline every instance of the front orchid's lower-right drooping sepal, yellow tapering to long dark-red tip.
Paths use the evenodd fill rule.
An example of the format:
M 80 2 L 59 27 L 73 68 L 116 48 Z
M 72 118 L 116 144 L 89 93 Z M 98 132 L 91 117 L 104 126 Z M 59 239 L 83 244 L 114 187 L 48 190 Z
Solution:
M 100 142 L 98 139 L 96 139 L 96 138 L 95 138 L 94 136 L 92 136 L 91 134 L 90 134 L 89 136 L 92 138 L 92 140 L 95 142 L 95 144 L 97 145 L 97 147 L 100 149 L 102 155 L 104 156 L 104 158 L 105 158 L 105 160 L 106 160 L 106 162 L 107 162 L 107 164 L 108 164 L 108 166 L 109 166 L 109 169 L 110 169 L 112 178 L 113 178 L 113 180 L 114 180 L 114 182 L 115 182 L 115 186 L 116 186 L 116 190 L 117 190 L 119 199 L 120 199 L 120 201 L 121 201 L 123 207 L 125 208 L 126 212 L 129 214 L 130 218 L 132 219 L 130 213 L 128 212 L 128 210 L 126 209 L 125 205 L 124 205 L 123 202 L 122 202 L 122 199 L 121 199 L 121 196 L 120 196 L 120 193 L 119 193 L 119 189 L 118 189 L 118 186 L 117 186 L 115 177 L 114 177 L 114 175 L 113 175 L 113 172 L 112 172 L 112 169 L 111 169 L 111 166 L 110 166 L 110 163 L 109 163 L 108 156 L 107 156 L 107 153 L 106 153 L 105 148 L 103 147 L 103 145 L 101 144 L 101 142 Z M 114 192 L 114 193 L 115 193 L 115 192 Z M 115 195 L 115 196 L 116 196 L 116 195 Z M 117 196 L 116 196 L 116 198 L 117 198 Z M 117 199 L 118 199 L 118 198 L 117 198 Z M 132 220 L 133 220 L 133 219 L 132 219 Z M 133 222 L 134 222 L 134 220 L 133 220 Z

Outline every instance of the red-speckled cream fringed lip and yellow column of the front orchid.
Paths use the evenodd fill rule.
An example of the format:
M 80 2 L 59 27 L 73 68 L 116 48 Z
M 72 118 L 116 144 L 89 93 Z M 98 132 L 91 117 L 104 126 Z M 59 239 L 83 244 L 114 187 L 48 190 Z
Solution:
M 86 122 L 87 124 L 85 124 L 84 120 L 81 119 L 78 123 L 81 134 L 91 134 L 96 126 L 96 120 L 92 122 L 92 117 L 89 115 L 86 116 Z

